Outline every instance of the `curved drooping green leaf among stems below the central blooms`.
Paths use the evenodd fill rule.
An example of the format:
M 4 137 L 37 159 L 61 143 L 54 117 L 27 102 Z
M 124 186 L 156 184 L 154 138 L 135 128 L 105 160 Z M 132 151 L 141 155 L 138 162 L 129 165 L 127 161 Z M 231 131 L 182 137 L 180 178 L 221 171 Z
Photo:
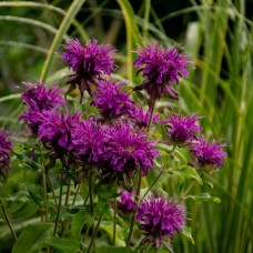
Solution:
M 92 225 L 93 219 L 87 210 L 80 210 L 73 215 L 71 234 L 74 239 L 81 239 L 81 231 L 84 224 Z

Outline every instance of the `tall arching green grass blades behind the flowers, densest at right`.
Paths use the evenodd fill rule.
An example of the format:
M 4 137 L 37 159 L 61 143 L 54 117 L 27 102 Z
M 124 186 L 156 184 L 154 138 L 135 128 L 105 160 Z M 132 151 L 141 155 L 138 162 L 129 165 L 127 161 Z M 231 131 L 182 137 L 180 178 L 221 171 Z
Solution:
M 214 3 L 203 0 L 199 4 L 191 0 L 191 8 L 176 11 L 168 17 L 158 17 L 150 0 L 143 1 L 139 12 L 132 8 L 131 1 L 118 0 L 117 2 L 119 10 L 98 9 L 98 12 L 118 16 L 124 21 L 126 31 L 125 64 L 128 67 L 125 78 L 132 82 L 136 81 L 132 69 L 132 51 L 136 45 L 153 37 L 163 44 L 170 44 L 170 34 L 164 34 L 162 22 L 175 16 L 183 18 L 189 12 L 198 14 L 198 20 L 189 23 L 182 41 L 182 44 L 185 45 L 184 50 L 192 55 L 192 61 L 195 62 L 195 69 L 191 72 L 190 78 L 180 85 L 180 103 L 185 111 L 205 114 L 203 129 L 206 134 L 211 138 L 222 136 L 229 144 L 229 159 L 225 166 L 221 172 L 210 176 L 213 183 L 212 195 L 219 196 L 222 202 L 220 204 L 202 203 L 199 205 L 193 201 L 186 201 L 191 216 L 189 222 L 195 245 L 184 240 L 176 241 L 174 251 L 200 253 L 252 252 L 253 22 L 245 18 L 245 1 L 217 0 Z M 82 38 L 88 39 L 85 28 L 80 28 L 80 24 L 74 21 L 83 3 L 84 0 L 75 0 L 68 11 L 49 4 L 38 6 L 36 2 L 6 1 L 0 3 L 0 8 L 7 6 L 40 7 L 63 14 L 58 28 L 52 28 L 49 23 L 42 24 L 38 21 L 16 18 L 18 22 L 43 26 L 55 33 L 47 58 L 44 58 L 40 75 L 41 81 L 50 80 L 54 51 L 64 37 L 71 36 L 68 34 L 71 24 L 77 24 L 75 29 L 81 31 Z M 8 16 L 0 17 L 0 19 L 4 21 Z M 11 41 L 3 41 L 3 43 L 13 45 Z M 42 50 L 37 45 L 27 47 L 22 41 L 17 43 L 16 47 L 26 50 L 47 52 L 47 49 Z M 9 95 L 0 99 L 0 102 L 17 99 L 17 97 Z M 14 117 L 17 117 L 16 114 Z M 8 118 L 0 120 L 3 123 L 10 121 Z M 204 185 L 204 188 L 208 186 Z M 196 193 L 198 191 L 195 189 Z

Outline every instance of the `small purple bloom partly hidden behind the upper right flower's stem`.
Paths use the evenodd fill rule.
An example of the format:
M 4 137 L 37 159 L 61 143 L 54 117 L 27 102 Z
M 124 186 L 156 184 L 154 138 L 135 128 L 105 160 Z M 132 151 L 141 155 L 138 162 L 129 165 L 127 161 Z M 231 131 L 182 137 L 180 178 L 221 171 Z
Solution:
M 130 119 L 134 120 L 134 124 L 139 129 L 145 129 L 149 125 L 149 120 L 150 120 L 150 110 L 148 109 L 146 112 L 144 112 L 143 108 L 134 110 L 134 113 L 130 115 Z M 158 122 L 160 119 L 159 114 L 153 115 L 153 123 Z

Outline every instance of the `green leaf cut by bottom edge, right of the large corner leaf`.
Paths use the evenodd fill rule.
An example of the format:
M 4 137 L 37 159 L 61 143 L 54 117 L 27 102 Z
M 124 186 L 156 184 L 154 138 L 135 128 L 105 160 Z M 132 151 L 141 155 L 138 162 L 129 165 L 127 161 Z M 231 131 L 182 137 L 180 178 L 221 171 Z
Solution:
M 80 252 L 80 243 L 73 239 L 50 237 L 44 241 L 45 246 L 50 246 L 55 253 Z

